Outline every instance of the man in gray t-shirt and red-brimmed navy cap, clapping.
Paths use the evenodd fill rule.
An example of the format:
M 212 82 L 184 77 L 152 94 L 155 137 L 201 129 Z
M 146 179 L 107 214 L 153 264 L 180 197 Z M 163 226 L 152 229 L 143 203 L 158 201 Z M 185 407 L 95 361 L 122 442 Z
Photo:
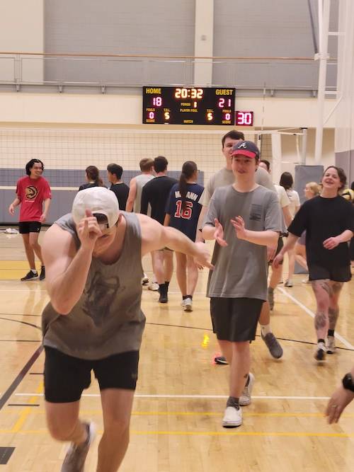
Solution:
M 267 246 L 276 246 L 281 231 L 277 195 L 256 183 L 258 161 L 253 142 L 234 146 L 234 184 L 215 190 L 202 226 L 202 236 L 216 241 L 207 297 L 213 330 L 231 371 L 224 427 L 241 425 L 240 406 L 251 403 L 249 343 L 267 299 Z

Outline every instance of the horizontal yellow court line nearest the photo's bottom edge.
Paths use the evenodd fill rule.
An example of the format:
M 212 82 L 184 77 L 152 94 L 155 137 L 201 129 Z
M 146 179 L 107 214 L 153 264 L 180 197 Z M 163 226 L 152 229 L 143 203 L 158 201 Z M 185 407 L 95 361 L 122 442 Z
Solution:
M 98 430 L 103 434 L 103 430 Z M 13 434 L 12 430 L 0 430 L 0 434 Z M 22 430 L 18 434 L 49 434 L 47 430 Z M 130 434 L 155 436 L 253 436 L 253 437 L 338 437 L 351 438 L 353 433 L 344 432 L 265 432 L 265 431 L 139 431 L 130 430 Z

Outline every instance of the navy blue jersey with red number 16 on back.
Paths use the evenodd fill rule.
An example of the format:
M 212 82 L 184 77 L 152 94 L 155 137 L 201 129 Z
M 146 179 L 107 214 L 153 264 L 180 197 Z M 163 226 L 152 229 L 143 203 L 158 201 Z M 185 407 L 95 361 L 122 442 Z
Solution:
M 202 205 L 199 203 L 204 187 L 198 183 L 187 184 L 187 195 L 185 198 L 185 209 L 182 209 L 181 193 L 176 183 L 171 188 L 169 200 L 166 204 L 166 214 L 169 214 L 170 226 L 179 229 L 185 236 L 195 241 L 197 224 Z

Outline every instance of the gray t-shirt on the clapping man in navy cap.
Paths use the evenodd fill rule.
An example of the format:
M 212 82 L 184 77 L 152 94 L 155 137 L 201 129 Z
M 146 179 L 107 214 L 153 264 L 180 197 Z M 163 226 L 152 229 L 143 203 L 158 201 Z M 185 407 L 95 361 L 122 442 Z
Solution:
M 238 239 L 230 219 L 241 216 L 246 229 L 280 232 L 280 205 L 275 192 L 261 185 L 251 192 L 237 192 L 233 185 L 217 188 L 203 221 L 215 226 L 217 218 L 228 246 L 215 243 L 207 297 L 267 299 L 267 248 Z

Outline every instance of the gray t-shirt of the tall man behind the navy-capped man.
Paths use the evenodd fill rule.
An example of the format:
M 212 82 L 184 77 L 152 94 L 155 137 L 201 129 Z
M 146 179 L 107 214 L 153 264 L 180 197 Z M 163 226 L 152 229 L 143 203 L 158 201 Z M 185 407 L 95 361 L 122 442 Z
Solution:
M 215 190 L 219 187 L 225 187 L 226 185 L 232 185 L 235 181 L 234 173 L 227 169 L 226 167 L 220 169 L 217 173 L 212 175 L 207 183 L 202 196 L 200 197 L 200 203 L 203 207 L 209 206 L 210 199 Z M 258 167 L 256 170 L 256 183 L 258 185 L 263 185 L 263 187 L 273 190 L 275 192 L 275 187 L 273 185 L 272 179 L 265 169 Z

